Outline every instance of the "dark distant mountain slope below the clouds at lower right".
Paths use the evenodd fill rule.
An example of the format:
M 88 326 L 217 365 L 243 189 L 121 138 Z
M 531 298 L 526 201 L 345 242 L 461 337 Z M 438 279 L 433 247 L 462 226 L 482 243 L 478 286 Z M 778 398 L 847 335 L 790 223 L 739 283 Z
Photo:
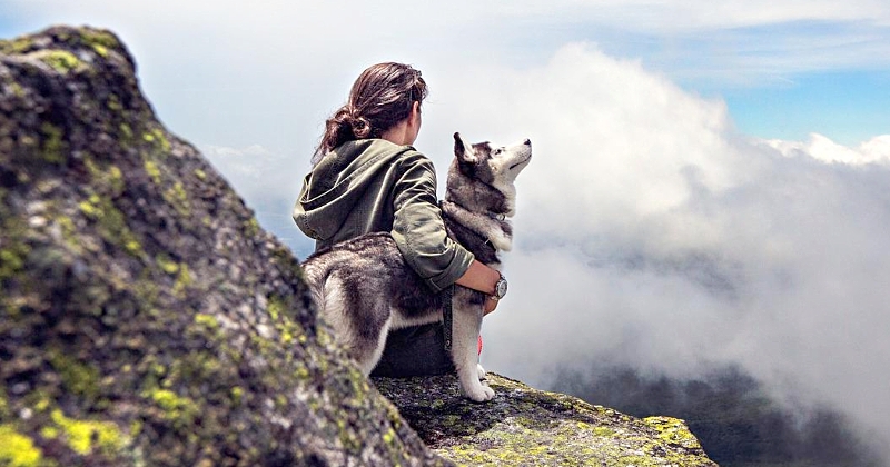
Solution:
M 709 457 L 723 467 L 881 467 L 887 461 L 851 434 L 828 408 L 794 414 L 771 400 L 738 368 L 703 379 L 645 377 L 626 367 L 565 370 L 554 389 L 636 417 L 664 414 L 684 419 Z

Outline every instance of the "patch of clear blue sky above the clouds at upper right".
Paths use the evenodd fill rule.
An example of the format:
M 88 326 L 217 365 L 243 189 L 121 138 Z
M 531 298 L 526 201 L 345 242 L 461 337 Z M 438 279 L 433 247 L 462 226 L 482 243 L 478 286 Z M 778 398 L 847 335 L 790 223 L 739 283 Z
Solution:
M 854 146 L 890 132 L 890 67 L 879 56 L 890 29 L 880 20 L 802 13 L 704 32 L 617 33 L 600 43 L 690 91 L 725 100 L 745 135 L 803 140 L 818 132 Z M 576 36 L 600 34 L 584 28 Z

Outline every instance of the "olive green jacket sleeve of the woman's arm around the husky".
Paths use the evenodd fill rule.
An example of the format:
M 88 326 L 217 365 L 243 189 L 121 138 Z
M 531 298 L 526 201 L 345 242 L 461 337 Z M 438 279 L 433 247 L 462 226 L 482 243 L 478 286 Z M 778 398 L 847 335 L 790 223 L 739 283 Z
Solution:
M 408 266 L 438 292 L 463 276 L 474 257 L 445 231 L 433 162 L 412 151 L 402 165 L 392 236 Z

